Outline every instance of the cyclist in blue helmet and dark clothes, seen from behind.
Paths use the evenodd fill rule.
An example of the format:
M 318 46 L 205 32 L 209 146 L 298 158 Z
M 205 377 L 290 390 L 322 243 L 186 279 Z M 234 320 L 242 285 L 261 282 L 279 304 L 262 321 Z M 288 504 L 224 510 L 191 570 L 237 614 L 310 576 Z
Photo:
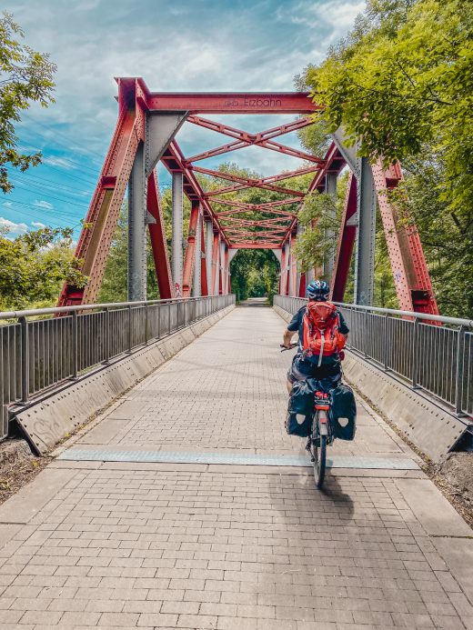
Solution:
M 307 297 L 310 302 L 327 302 L 327 296 L 330 293 L 330 287 L 325 280 L 314 280 L 307 286 Z M 304 351 L 304 315 L 306 314 L 307 306 L 302 306 L 293 316 L 287 330 L 284 334 L 283 345 L 286 348 L 291 347 L 292 337 L 298 333 L 298 348 L 297 354 L 292 361 L 287 372 L 287 391 L 291 393 L 292 385 L 296 381 L 305 380 L 308 377 L 322 379 L 329 378 L 333 385 L 336 386 L 341 379 L 341 365 L 340 361 L 343 355 L 340 352 L 335 352 L 332 355 L 317 356 L 307 355 Z M 336 310 L 337 316 L 337 331 L 340 335 L 346 339 L 349 329 L 343 315 Z

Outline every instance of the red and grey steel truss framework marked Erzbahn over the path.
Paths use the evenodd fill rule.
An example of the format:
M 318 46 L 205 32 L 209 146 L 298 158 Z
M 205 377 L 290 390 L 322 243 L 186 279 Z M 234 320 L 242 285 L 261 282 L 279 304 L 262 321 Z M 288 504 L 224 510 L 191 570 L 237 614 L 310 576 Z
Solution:
M 325 277 L 332 298 L 343 301 L 347 276 L 355 256 L 355 303 L 372 304 L 376 209 L 382 219 L 399 308 L 438 314 L 418 231 L 413 223 L 399 226 L 387 190 L 402 179 L 400 165 L 385 169 L 370 164 L 347 146 L 342 130 L 332 136 L 323 159 L 284 144 L 284 136 L 313 123 L 320 106 L 306 93 L 155 93 L 141 78 L 119 78 L 118 120 L 96 185 L 75 255 L 89 277 L 85 288 L 65 285 L 59 305 L 96 301 L 116 222 L 128 188 L 128 298 L 146 299 L 146 230 L 152 245 L 161 298 L 226 295 L 230 292 L 229 265 L 239 249 L 271 249 L 280 263 L 280 294 L 304 296 L 307 282 Z M 225 125 L 208 116 L 293 115 L 285 125 L 258 133 Z M 186 156 L 178 144 L 182 125 L 196 125 L 223 136 L 222 144 Z M 206 159 L 225 156 L 248 146 L 296 157 L 297 170 L 250 178 L 206 167 Z M 156 165 L 172 175 L 172 255 L 166 231 Z M 297 213 L 314 191 L 337 194 L 337 175 L 350 174 L 336 254 L 323 268 L 300 273 L 297 268 Z M 305 192 L 291 187 L 291 179 L 310 175 Z M 206 175 L 218 188 L 206 190 Z M 294 180 L 293 180 L 294 181 Z M 271 191 L 274 200 L 249 204 L 239 191 Z M 191 205 L 187 242 L 183 243 L 183 198 Z M 183 246 L 184 245 L 184 246 Z

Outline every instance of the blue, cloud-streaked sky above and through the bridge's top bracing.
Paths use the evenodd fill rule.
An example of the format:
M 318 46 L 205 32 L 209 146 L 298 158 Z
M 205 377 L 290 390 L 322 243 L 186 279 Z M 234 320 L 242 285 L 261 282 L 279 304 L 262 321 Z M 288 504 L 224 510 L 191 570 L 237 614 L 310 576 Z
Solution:
M 32 107 L 17 127 L 21 147 L 44 164 L 14 173 L 0 193 L 0 226 L 10 235 L 40 226 L 75 226 L 86 210 L 116 123 L 114 76 L 143 76 L 152 91 L 290 91 L 294 75 L 317 64 L 346 35 L 364 0 L 6 0 L 25 42 L 57 65 L 55 105 Z M 215 119 L 218 117 L 213 116 Z M 220 117 L 224 120 L 224 117 Z M 282 116 L 226 116 L 248 131 Z M 288 119 L 287 119 L 288 120 Z M 186 155 L 224 144 L 226 136 L 185 125 Z M 297 138 L 282 142 L 297 145 Z M 273 175 L 300 161 L 257 147 L 225 159 Z M 167 185 L 160 173 L 161 185 Z

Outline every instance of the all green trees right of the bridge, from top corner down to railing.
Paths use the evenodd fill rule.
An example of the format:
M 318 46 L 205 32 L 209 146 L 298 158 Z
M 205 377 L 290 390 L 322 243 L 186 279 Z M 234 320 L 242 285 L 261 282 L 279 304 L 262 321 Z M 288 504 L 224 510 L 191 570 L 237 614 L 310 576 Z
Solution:
M 368 0 L 347 38 L 297 77 L 325 105 L 315 153 L 320 125 L 343 125 L 358 155 L 401 161 L 391 202 L 400 227 L 418 227 L 444 315 L 473 315 L 472 9 L 471 0 Z M 305 236 L 306 249 L 320 236 Z M 395 306 L 379 217 L 375 266 L 375 304 Z

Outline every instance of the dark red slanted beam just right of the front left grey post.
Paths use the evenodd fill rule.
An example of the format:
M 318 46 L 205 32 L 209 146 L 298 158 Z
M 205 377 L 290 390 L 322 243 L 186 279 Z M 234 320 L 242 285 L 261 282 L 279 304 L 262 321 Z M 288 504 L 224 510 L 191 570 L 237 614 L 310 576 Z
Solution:
M 166 228 L 163 211 L 160 203 L 159 186 L 157 185 L 156 171 L 148 177 L 146 207 L 156 223 L 150 223 L 149 239 L 155 260 L 157 286 L 159 297 L 162 300 L 175 297 L 174 283 L 171 277 L 171 267 L 169 265 L 169 254 L 166 244 Z

